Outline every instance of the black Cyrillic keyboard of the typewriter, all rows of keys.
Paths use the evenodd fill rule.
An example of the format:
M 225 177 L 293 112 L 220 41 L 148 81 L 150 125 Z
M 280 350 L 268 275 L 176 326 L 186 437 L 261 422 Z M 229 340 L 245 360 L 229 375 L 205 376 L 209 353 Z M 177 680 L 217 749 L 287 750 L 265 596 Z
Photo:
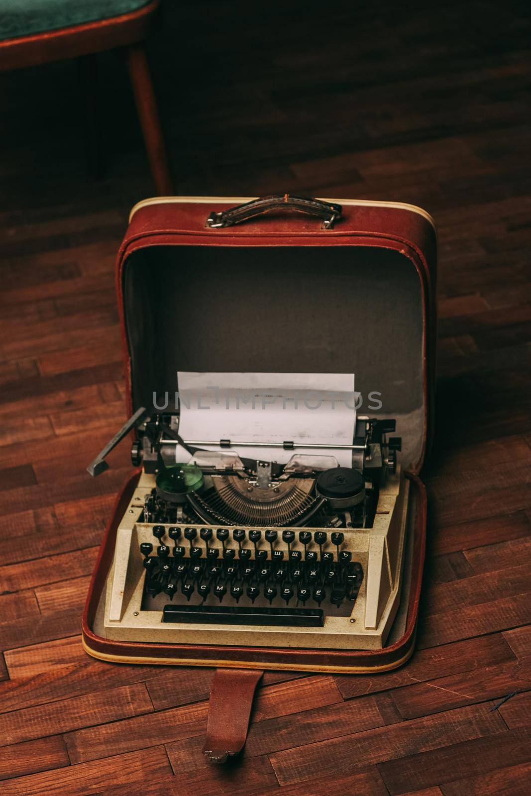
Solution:
M 164 622 L 318 626 L 323 609 L 350 614 L 363 580 L 340 531 L 152 531 L 140 544 L 143 608 Z

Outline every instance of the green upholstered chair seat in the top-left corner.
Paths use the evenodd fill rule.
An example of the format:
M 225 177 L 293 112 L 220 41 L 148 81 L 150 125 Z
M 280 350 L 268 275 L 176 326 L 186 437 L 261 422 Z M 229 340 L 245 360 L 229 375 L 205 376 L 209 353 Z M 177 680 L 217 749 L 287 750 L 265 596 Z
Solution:
M 0 41 L 117 17 L 148 0 L 0 0 Z

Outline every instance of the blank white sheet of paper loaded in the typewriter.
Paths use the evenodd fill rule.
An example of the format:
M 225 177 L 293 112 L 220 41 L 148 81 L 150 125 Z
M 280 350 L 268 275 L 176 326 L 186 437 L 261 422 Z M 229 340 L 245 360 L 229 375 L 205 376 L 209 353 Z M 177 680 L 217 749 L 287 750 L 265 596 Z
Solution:
M 356 424 L 353 373 L 190 373 L 179 371 L 179 434 L 189 441 L 230 439 L 230 449 L 201 445 L 247 458 L 285 464 L 294 453 L 332 455 L 351 466 Z M 238 442 L 293 442 L 282 447 L 238 447 Z M 297 447 L 317 443 L 326 447 Z M 178 461 L 189 455 L 178 447 Z

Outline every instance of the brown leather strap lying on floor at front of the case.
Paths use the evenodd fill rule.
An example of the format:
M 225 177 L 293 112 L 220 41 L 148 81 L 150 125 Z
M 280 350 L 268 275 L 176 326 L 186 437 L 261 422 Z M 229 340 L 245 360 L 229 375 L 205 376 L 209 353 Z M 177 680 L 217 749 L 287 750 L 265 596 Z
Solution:
M 252 698 L 263 674 L 261 669 L 216 669 L 203 747 L 211 763 L 225 763 L 244 748 Z

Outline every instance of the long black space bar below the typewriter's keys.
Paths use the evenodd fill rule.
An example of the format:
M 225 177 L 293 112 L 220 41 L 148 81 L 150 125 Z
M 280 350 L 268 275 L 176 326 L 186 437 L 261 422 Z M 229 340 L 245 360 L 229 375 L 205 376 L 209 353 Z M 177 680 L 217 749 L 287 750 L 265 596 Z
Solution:
M 277 625 L 322 627 L 318 608 L 254 608 L 232 605 L 165 605 L 162 622 L 193 622 L 215 625 Z

